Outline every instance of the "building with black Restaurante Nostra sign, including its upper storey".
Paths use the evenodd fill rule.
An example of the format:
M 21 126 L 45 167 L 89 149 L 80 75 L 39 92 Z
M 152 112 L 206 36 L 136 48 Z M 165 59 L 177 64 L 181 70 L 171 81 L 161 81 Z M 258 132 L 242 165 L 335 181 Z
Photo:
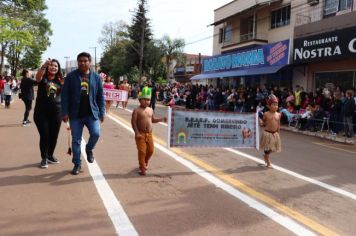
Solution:
M 309 91 L 356 85 L 356 1 L 308 1 L 297 9 L 294 80 Z

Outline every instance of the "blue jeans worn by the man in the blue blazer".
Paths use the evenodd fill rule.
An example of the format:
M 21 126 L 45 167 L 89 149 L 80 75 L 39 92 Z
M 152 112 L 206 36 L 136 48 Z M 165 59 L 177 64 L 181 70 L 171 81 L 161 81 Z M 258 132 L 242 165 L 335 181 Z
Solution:
M 69 122 L 72 131 L 72 151 L 73 151 L 72 162 L 75 165 L 80 165 L 81 164 L 80 145 L 82 142 L 84 125 L 88 128 L 89 135 L 90 135 L 85 150 L 91 151 L 94 149 L 95 144 L 100 137 L 100 121 L 95 120 L 94 117 L 90 115 L 84 118 L 70 119 Z

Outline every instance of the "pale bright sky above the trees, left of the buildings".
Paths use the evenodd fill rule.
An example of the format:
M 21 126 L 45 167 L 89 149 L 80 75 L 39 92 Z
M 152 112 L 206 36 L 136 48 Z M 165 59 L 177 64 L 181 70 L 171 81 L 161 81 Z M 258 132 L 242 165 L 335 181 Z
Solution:
M 147 0 L 148 18 L 155 39 L 164 35 L 183 38 L 187 44 L 186 53 L 211 55 L 213 49 L 214 10 L 232 0 Z M 137 0 L 46 0 L 46 18 L 51 23 L 53 35 L 51 46 L 42 56 L 56 58 L 62 67 L 65 57 L 75 60 L 83 51 L 94 59 L 96 47 L 97 62 L 103 53 L 98 39 L 102 28 L 109 22 L 120 20 L 131 24 L 137 9 Z

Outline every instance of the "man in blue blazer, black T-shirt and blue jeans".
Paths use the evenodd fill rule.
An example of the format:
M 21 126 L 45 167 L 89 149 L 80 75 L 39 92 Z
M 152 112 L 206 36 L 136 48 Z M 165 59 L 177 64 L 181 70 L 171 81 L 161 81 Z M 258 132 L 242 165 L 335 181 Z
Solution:
M 97 73 L 90 70 L 90 54 L 80 53 L 77 62 L 78 69 L 67 75 L 61 93 L 63 121 L 69 120 L 72 131 L 73 175 L 78 175 L 81 170 L 80 145 L 84 125 L 90 134 L 85 152 L 88 162 L 93 163 L 93 149 L 100 136 L 100 122 L 105 117 L 102 81 Z

